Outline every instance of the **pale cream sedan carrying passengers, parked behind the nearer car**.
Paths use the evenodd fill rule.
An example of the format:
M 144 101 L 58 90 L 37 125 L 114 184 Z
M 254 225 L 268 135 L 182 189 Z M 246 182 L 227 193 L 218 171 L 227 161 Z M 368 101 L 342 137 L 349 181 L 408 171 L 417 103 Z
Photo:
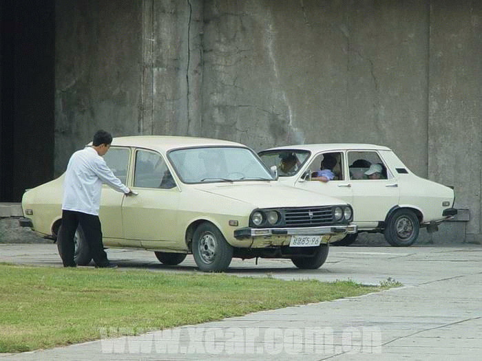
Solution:
M 434 232 L 457 214 L 452 188 L 417 177 L 386 146 L 304 144 L 259 155 L 266 166 L 277 166 L 283 184 L 351 204 L 359 232 L 383 232 L 390 245 L 412 245 L 419 228 Z M 322 167 L 331 168 L 329 182 L 320 177 Z M 349 245 L 356 237 L 348 234 L 332 244 Z

